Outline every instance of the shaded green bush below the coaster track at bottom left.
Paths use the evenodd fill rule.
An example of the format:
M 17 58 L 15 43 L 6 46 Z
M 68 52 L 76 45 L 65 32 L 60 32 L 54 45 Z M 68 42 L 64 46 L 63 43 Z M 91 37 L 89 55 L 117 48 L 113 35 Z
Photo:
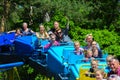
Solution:
M 54 77 L 43 75 L 41 72 L 38 72 L 36 69 L 26 64 L 18 67 L 18 72 L 21 80 L 54 80 Z

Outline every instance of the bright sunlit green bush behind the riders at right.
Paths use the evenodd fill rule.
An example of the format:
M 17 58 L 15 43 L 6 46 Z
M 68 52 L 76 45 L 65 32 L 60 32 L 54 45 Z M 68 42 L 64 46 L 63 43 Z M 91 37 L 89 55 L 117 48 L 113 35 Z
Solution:
M 69 34 L 73 41 L 80 41 L 81 45 L 85 46 L 85 36 L 92 33 L 94 40 L 97 41 L 102 50 L 106 50 L 108 53 L 115 55 L 120 54 L 120 37 L 117 33 L 108 30 L 93 30 L 93 29 L 81 29 L 80 27 L 74 27 L 70 30 Z

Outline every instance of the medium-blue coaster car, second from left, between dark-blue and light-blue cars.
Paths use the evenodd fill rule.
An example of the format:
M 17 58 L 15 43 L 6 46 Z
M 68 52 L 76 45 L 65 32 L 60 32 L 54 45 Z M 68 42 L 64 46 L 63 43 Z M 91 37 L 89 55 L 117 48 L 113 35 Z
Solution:
M 21 56 L 30 56 L 35 51 L 35 36 L 23 36 L 15 39 L 15 52 Z

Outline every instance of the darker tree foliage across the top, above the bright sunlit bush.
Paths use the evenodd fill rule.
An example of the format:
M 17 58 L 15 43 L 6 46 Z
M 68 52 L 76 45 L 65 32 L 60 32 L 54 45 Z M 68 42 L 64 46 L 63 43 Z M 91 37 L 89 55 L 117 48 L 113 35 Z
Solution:
M 20 26 L 21 22 L 28 22 L 29 26 L 36 30 L 40 23 L 45 22 L 46 13 L 50 15 L 51 21 L 65 22 L 66 19 L 62 18 L 65 16 L 72 20 L 75 25 L 84 29 L 94 28 L 116 31 L 119 29 L 120 3 L 116 0 L 6 1 L 9 2 L 10 6 L 5 7 L 4 1 L 1 0 L 0 14 L 7 16 L 6 26 L 12 27 L 12 29 L 15 28 L 15 25 Z M 5 12 L 7 8 L 9 8 L 8 13 Z

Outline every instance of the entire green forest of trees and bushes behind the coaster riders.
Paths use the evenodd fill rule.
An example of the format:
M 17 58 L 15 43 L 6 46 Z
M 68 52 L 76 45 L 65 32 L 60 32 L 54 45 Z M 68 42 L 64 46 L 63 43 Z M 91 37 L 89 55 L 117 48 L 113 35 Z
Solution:
M 34 31 L 39 24 L 49 30 L 54 21 L 61 28 L 69 24 L 69 36 L 83 46 L 85 35 L 92 33 L 102 50 L 120 55 L 119 0 L 0 0 L 1 32 L 21 27 L 23 22 Z

